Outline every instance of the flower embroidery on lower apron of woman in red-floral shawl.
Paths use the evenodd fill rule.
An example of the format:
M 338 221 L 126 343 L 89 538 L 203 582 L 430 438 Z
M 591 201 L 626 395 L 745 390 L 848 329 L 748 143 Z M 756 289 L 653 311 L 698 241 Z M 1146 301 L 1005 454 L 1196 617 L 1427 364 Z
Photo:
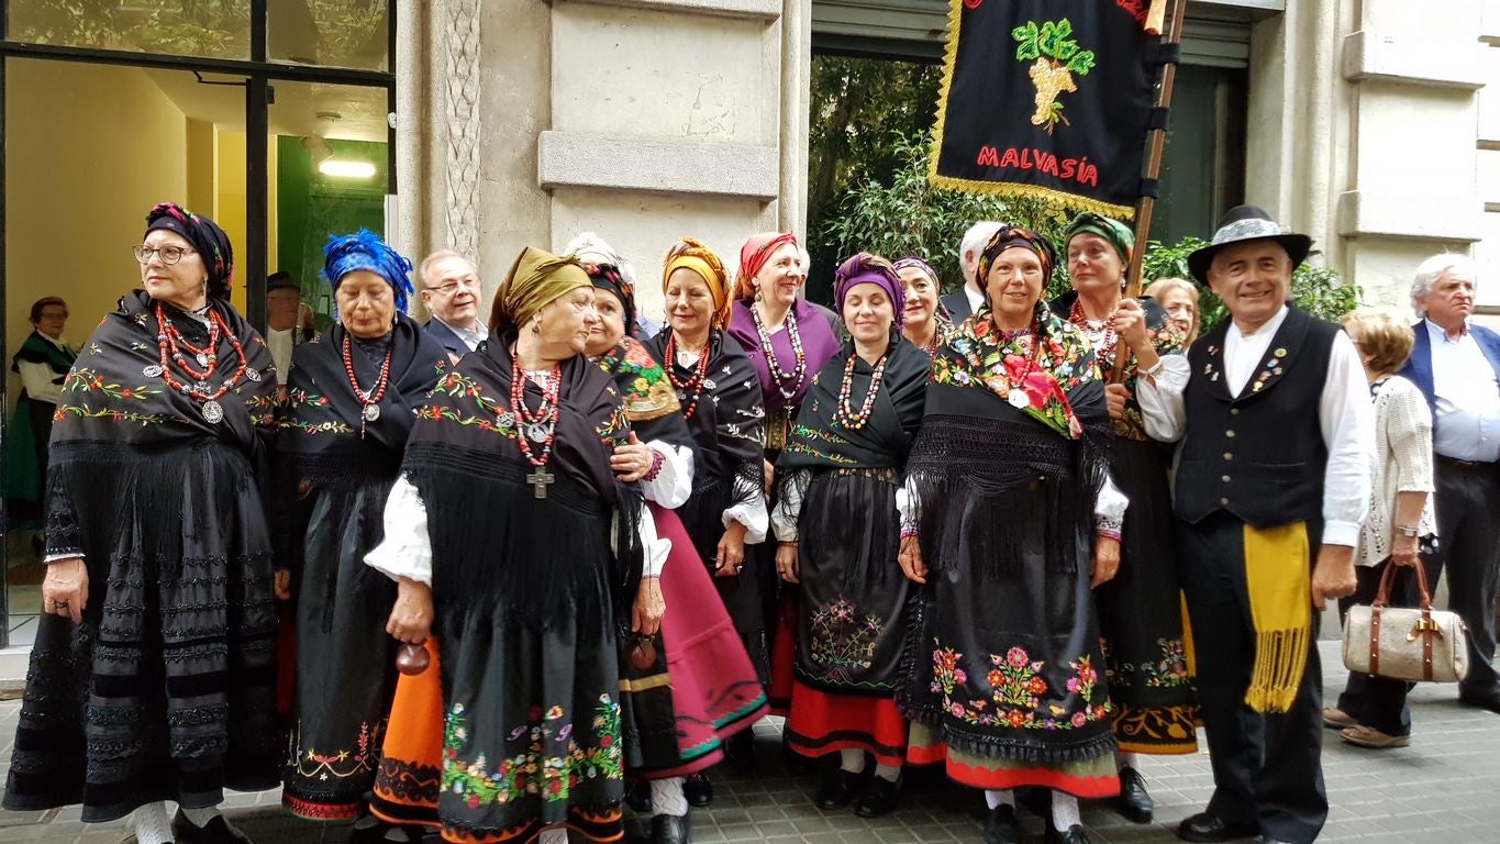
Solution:
M 951 717 L 981 727 L 1074 730 L 1107 720 L 1113 712 L 1108 702 L 1094 703 L 1100 675 L 1089 655 L 1068 663 L 1074 672 L 1066 681 L 1068 697 L 1056 703 L 1053 700 L 1058 699 L 1048 696 L 1054 696 L 1058 690 L 1042 676 L 1046 663 L 1032 660 L 1024 648 L 1011 648 L 1004 657 L 990 654 L 988 658 L 986 682 L 990 691 L 984 697 L 969 697 L 970 688 L 966 685 L 969 675 L 960 667 L 963 654 L 942 648 L 940 643 L 933 651 L 932 690 L 942 693 L 944 709 Z M 1068 706 L 1062 706 L 1068 699 L 1077 700 L 1071 714 Z

